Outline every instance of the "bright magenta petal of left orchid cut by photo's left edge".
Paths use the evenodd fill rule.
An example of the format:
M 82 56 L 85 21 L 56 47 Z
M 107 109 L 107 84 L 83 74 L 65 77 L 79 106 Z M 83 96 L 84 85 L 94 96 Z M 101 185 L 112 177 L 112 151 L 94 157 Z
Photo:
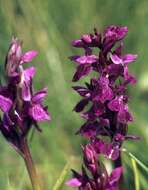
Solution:
M 9 98 L 6 98 L 0 95 L 0 109 L 3 112 L 8 112 L 12 106 L 12 101 Z

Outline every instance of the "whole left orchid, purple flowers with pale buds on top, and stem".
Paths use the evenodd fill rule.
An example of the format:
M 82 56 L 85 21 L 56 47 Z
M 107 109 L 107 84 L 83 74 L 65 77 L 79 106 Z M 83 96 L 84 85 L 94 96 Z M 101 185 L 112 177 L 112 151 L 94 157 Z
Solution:
M 9 47 L 6 62 L 6 85 L 0 87 L 0 130 L 6 140 L 25 159 L 32 178 L 34 189 L 39 189 L 35 182 L 35 169 L 27 144 L 27 136 L 31 128 L 39 131 L 39 121 L 50 120 L 47 107 L 43 99 L 47 95 L 47 88 L 38 92 L 33 90 L 35 68 L 24 69 L 24 65 L 31 62 L 37 52 L 34 50 L 22 53 L 22 43 L 13 38 Z

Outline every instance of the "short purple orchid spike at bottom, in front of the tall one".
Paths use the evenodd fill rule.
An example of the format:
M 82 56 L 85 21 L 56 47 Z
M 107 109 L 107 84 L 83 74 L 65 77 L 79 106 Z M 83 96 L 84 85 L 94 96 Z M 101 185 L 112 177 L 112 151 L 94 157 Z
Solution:
M 118 190 L 123 168 L 115 168 L 111 175 L 108 175 L 104 165 L 98 161 L 95 149 L 90 144 L 83 147 L 83 154 L 85 168 L 82 167 L 81 173 L 72 170 L 73 178 L 68 180 L 66 184 L 79 190 Z

